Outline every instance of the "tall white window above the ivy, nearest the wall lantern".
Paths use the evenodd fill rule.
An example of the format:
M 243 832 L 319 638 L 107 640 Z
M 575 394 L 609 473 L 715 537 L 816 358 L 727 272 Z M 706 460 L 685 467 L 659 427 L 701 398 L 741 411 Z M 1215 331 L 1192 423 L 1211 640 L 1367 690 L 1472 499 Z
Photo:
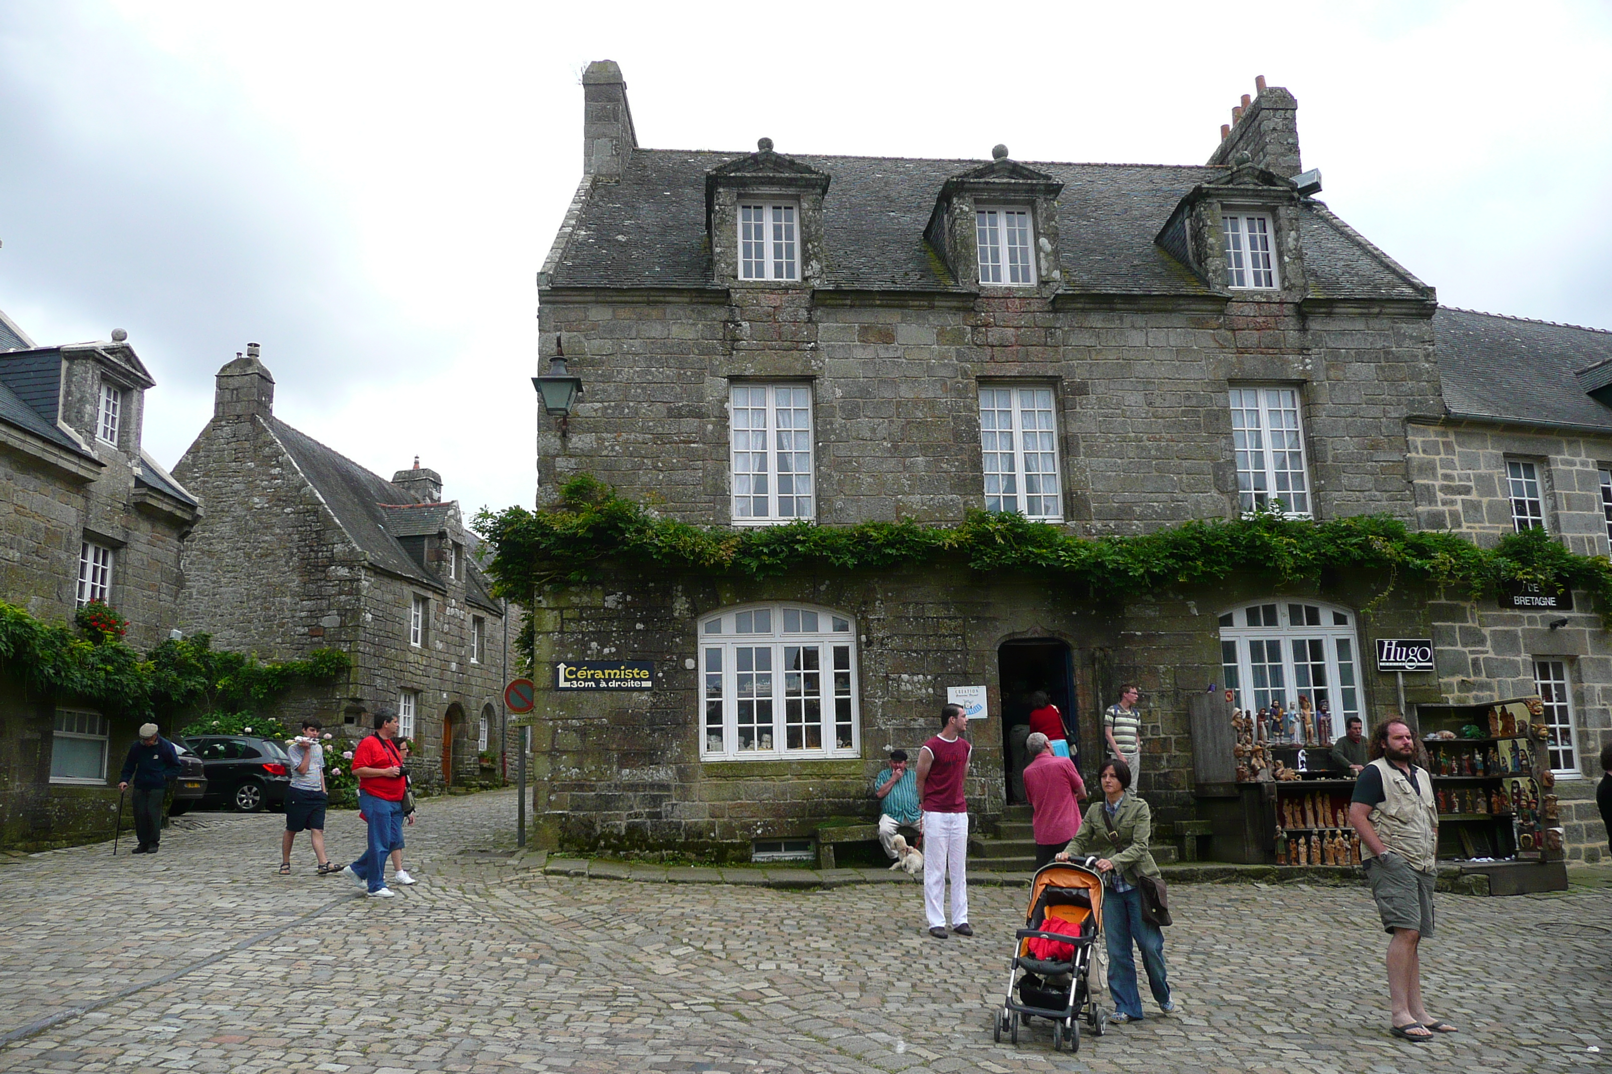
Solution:
M 733 385 L 733 522 L 795 522 L 816 514 L 809 385 Z

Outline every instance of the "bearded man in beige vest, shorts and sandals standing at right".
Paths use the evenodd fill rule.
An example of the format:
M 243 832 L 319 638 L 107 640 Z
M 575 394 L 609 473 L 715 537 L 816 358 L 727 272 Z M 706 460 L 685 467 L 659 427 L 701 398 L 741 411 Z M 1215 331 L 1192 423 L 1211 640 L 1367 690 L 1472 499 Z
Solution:
M 1410 726 L 1393 717 L 1377 725 L 1349 802 L 1349 823 L 1361 836 L 1361 858 L 1388 942 L 1388 1031 L 1422 1043 L 1456 1027 L 1422 1006 L 1422 956 L 1417 945 L 1433 936 L 1433 884 L 1438 879 L 1438 800 L 1433 779 L 1415 765 Z

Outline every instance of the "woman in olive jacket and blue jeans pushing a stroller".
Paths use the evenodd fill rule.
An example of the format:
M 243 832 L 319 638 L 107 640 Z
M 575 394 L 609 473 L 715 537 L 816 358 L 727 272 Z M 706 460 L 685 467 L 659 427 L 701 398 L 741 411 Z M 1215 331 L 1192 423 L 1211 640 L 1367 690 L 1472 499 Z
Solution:
M 1059 861 L 1098 857 L 1107 897 L 1103 900 L 1103 936 L 1109 955 L 1109 995 L 1114 998 L 1112 1022 L 1141 1021 L 1141 993 L 1136 989 L 1136 960 L 1132 942 L 1141 948 L 1141 965 L 1148 971 L 1148 987 L 1159 1010 L 1175 1011 L 1170 982 L 1164 969 L 1164 932 L 1141 913 L 1141 878 L 1159 878 L 1159 865 L 1148 850 L 1153 836 L 1153 812 L 1140 795 L 1130 792 L 1130 766 L 1122 760 L 1106 760 L 1098 768 L 1103 802 L 1088 808 L 1080 831 L 1069 841 Z

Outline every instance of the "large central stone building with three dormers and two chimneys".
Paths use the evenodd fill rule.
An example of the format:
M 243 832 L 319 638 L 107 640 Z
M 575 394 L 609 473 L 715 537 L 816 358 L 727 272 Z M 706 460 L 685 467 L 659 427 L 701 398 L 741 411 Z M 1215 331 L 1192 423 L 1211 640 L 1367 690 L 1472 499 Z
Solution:
M 590 473 L 716 527 L 987 509 L 1096 536 L 1272 506 L 1465 525 L 1407 443 L 1498 435 L 1449 423 L 1456 316 L 1315 196 L 1283 89 L 1261 79 L 1203 166 L 648 150 L 614 63 L 584 97 L 585 174 L 538 274 L 542 359 L 584 393 L 540 422 L 540 504 Z M 1138 681 L 1140 787 L 1165 820 L 1198 810 L 1188 697 L 1211 684 L 1244 704 L 1309 689 L 1340 731 L 1531 688 L 1515 660 L 1475 680 L 1469 652 L 1401 699 L 1373 639 L 1465 642 L 1444 623 L 1486 612 L 1383 581 L 1251 573 L 1124 605 L 964 568 L 572 586 L 534 610 L 537 665 L 653 660 L 654 688 L 540 699 L 540 832 L 790 850 L 872 815 L 883 752 L 932 734 L 951 686 L 987 686 L 969 787 L 987 829 L 1012 794 L 1004 708 L 1033 688 L 1095 758 L 1098 715 Z M 1606 642 L 1585 630 L 1588 655 Z

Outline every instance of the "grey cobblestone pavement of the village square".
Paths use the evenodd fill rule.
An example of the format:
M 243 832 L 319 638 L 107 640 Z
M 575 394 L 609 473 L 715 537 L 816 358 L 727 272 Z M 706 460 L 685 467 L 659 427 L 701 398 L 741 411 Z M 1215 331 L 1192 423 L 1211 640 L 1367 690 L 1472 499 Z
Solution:
M 916 884 L 621 882 L 466 853 L 513 847 L 514 810 L 513 792 L 422 802 L 419 884 L 388 902 L 313 876 L 306 844 L 276 876 L 276 815 L 187 816 L 148 858 L 0 865 L 0 1071 L 1515 1074 L 1612 1056 L 1612 887 L 1440 897 L 1427 993 L 1465 1032 L 1407 1045 L 1385 1034 L 1364 889 L 1182 886 L 1182 1011 L 1149 1003 L 1069 1055 L 1045 1022 L 991 1040 L 1024 889 L 974 890 L 977 936 L 937 942 Z M 332 813 L 332 850 L 361 836 Z

